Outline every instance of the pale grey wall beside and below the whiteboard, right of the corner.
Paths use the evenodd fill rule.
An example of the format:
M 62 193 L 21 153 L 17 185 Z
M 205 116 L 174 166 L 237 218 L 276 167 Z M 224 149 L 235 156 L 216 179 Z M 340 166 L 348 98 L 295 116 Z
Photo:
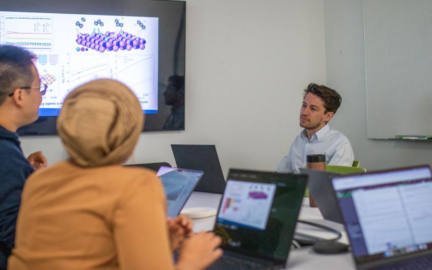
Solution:
M 327 84 L 343 99 L 332 125 L 348 136 L 360 166 L 432 165 L 431 142 L 367 139 L 362 1 L 325 0 L 324 18 Z

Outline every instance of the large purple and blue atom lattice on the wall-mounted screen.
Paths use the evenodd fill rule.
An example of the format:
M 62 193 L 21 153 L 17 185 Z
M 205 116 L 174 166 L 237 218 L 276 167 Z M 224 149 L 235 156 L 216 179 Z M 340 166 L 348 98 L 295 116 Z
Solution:
M 117 52 L 119 49 L 128 51 L 132 49 L 144 50 L 144 44 L 146 43 L 145 39 L 125 31 L 120 31 L 118 33 L 107 31 L 105 34 L 94 33 L 92 35 L 79 33 L 77 37 L 76 41 L 79 45 L 101 53 L 105 51 Z

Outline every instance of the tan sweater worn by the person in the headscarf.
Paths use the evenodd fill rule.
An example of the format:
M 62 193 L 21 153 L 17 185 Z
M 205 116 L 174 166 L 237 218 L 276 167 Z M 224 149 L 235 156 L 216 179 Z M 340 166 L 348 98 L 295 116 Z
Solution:
M 165 213 L 150 170 L 54 164 L 27 179 L 8 269 L 173 269 Z

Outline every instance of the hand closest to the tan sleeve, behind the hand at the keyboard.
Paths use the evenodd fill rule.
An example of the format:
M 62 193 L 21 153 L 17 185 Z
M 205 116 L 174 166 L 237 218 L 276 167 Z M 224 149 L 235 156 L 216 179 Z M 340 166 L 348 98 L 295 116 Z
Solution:
M 166 219 L 168 225 L 172 250 L 179 249 L 186 236 L 192 233 L 192 220 L 187 216 L 179 215 L 175 218 Z

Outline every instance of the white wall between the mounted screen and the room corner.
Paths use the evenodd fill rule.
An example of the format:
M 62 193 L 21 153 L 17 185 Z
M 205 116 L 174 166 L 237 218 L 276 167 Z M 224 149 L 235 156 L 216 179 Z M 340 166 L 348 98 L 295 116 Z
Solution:
M 186 131 L 142 134 L 130 162 L 174 165 L 171 143 L 208 143 L 225 174 L 274 170 L 300 131 L 301 90 L 326 82 L 323 0 L 188 0 L 186 24 Z M 65 158 L 56 136 L 22 147 Z

